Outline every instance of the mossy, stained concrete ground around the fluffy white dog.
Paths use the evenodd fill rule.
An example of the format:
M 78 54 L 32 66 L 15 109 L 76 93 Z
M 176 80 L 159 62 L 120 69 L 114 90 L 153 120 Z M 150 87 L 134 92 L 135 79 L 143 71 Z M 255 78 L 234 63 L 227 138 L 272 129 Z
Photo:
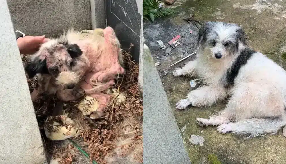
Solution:
M 285 4 L 286 0 L 176 0 L 168 7 L 178 9 L 179 13 L 162 19 L 156 18 L 154 23 L 144 20 L 146 44 L 154 62 L 160 62 L 157 70 L 192 163 L 206 163 L 208 155 L 214 154 L 219 161 L 228 164 L 282 164 L 286 160 L 286 138 L 282 130 L 279 130 L 275 135 L 247 140 L 233 134 L 219 134 L 212 126 L 202 128 L 196 125 L 196 117 L 207 118 L 223 109 L 224 103 L 210 108 L 188 107 L 182 111 L 175 110 L 174 105 L 184 99 L 191 89 L 196 88 L 190 87 L 190 78 L 175 78 L 171 75 L 175 68 L 182 67 L 195 55 L 168 69 L 172 63 L 196 51 L 198 29 L 182 19 L 189 18 L 192 14 L 195 20 L 237 23 L 245 30 L 251 48 L 264 53 L 285 68 L 286 60 L 281 57 L 286 51 Z M 193 31 L 191 34 L 190 30 Z M 168 41 L 177 34 L 181 35 L 180 44 L 172 48 L 171 54 L 166 55 L 166 49 L 160 49 L 157 40 L 162 40 L 168 48 Z M 194 136 L 191 139 L 191 135 L 199 135 L 195 137 L 198 137 L 200 144 L 192 144 Z

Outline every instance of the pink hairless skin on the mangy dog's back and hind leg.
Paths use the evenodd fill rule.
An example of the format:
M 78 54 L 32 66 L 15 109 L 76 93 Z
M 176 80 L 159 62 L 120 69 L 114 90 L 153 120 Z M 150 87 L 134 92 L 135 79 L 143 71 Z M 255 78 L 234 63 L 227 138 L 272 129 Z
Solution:
M 118 60 L 120 44 L 112 28 L 104 29 L 104 40 L 107 46 L 102 51 L 103 54 L 87 53 L 90 65 L 94 67 L 90 69 L 89 73 L 86 73 L 85 80 L 80 83 L 81 89 L 100 103 L 98 111 L 102 111 L 110 100 L 109 95 L 101 92 L 114 85 L 115 77 L 124 73 L 124 68 L 121 67 Z M 86 51 L 94 52 L 92 47 L 87 47 Z M 95 87 L 92 83 L 96 83 L 98 86 Z

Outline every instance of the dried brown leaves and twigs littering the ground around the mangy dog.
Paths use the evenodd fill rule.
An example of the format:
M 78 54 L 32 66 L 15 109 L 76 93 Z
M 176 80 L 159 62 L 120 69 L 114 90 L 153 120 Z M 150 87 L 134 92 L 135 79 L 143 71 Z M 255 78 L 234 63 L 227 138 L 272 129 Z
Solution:
M 78 138 L 73 139 L 81 142 L 79 145 L 99 164 L 105 164 L 105 157 L 114 155 L 132 155 L 134 160 L 143 162 L 143 97 L 138 84 L 139 66 L 131 60 L 130 53 L 123 51 L 122 56 L 126 74 L 117 79 L 115 88 L 126 96 L 126 101 L 116 104 L 116 98 L 111 99 L 113 101 L 105 109 L 109 115 L 103 120 L 91 121 L 83 116 L 86 124 L 94 124 L 96 126 L 93 127 L 97 129 L 85 130 Z M 28 84 L 30 88 L 34 88 L 37 81 L 32 79 Z M 55 108 L 56 103 L 57 99 L 54 97 L 42 97 L 34 104 L 40 129 L 43 128 L 44 120 L 52 115 L 51 109 Z M 69 113 L 78 113 L 75 105 L 69 103 L 68 106 L 73 106 Z M 77 151 L 72 145 L 50 148 L 53 149 L 54 157 L 61 158 L 60 164 L 72 163 Z

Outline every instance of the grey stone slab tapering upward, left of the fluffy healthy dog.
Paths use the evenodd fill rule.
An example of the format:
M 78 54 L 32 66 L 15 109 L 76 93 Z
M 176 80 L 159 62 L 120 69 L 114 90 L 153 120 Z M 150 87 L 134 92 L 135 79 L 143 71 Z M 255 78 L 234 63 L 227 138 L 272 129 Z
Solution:
M 144 47 L 143 47 L 144 46 Z M 184 148 L 160 77 L 148 47 L 142 44 L 140 73 L 143 77 L 143 163 L 184 163 L 190 159 Z

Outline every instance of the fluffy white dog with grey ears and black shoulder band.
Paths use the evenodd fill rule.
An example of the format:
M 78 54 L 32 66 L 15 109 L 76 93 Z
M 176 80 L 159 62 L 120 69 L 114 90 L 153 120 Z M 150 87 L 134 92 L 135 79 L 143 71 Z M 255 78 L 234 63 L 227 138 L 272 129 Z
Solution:
M 286 71 L 263 54 L 247 47 L 237 24 L 206 22 L 198 35 L 195 60 L 173 72 L 198 76 L 205 85 L 191 91 L 176 108 L 210 106 L 230 97 L 226 108 L 200 126 L 219 125 L 220 133 L 255 137 L 275 134 L 286 124 Z

